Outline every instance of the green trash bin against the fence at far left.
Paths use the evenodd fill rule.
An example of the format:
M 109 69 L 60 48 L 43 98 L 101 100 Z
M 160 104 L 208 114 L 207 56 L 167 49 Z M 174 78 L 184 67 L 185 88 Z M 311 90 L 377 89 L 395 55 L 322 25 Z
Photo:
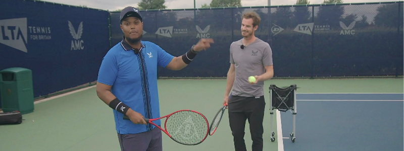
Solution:
M 0 92 L 3 112 L 17 110 L 27 114 L 34 111 L 32 70 L 22 67 L 1 70 Z

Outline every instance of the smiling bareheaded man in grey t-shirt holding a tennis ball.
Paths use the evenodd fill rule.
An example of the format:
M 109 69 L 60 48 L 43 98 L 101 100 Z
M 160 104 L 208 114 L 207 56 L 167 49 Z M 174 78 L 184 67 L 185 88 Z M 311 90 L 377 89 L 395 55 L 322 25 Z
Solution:
M 264 81 L 274 75 L 272 49 L 268 43 L 255 37 L 261 18 L 255 12 L 243 14 L 242 39 L 230 45 L 230 69 L 224 105 L 228 105 L 230 129 L 236 151 L 245 151 L 244 129 L 248 119 L 252 151 L 263 150 L 263 120 L 265 111 Z M 254 76 L 255 82 L 248 82 Z M 229 97 L 230 90 L 231 96 Z

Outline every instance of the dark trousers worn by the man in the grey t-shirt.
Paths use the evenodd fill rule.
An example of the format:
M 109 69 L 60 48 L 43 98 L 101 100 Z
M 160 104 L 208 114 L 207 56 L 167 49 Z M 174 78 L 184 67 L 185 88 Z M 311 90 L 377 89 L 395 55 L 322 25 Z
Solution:
M 246 151 L 244 142 L 245 122 L 248 120 L 252 139 L 252 151 L 263 150 L 264 96 L 232 96 L 228 103 L 230 129 L 236 151 Z

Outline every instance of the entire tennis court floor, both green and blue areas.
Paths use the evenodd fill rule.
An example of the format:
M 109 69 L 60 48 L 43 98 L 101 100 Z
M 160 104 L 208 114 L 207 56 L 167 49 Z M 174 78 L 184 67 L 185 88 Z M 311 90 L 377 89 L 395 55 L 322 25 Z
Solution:
M 191 109 L 211 121 L 223 103 L 226 81 L 159 80 L 158 84 L 162 115 Z M 295 142 L 289 136 L 289 111 L 275 112 L 270 123 L 270 84 L 299 87 Z M 401 150 L 402 84 L 402 78 L 267 81 L 264 150 Z M 234 150 L 227 115 L 216 133 L 198 145 L 181 145 L 163 134 L 164 150 Z M 37 101 L 34 112 L 23 119 L 20 125 L 0 126 L 1 150 L 120 150 L 111 109 L 97 98 L 94 87 Z M 270 141 L 270 124 L 275 142 Z M 248 122 L 245 130 L 251 150 Z

